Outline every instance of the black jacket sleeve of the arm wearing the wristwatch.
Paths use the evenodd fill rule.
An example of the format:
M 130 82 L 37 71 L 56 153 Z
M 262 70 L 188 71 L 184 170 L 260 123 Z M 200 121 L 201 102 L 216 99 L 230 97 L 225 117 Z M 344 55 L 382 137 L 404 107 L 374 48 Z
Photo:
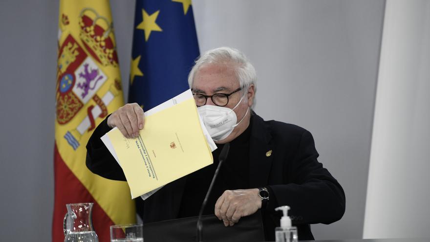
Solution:
M 344 215 L 344 190 L 318 156 L 312 134 L 303 130 L 294 158 L 284 166 L 285 184 L 270 185 L 278 205 L 290 206 L 295 224 L 328 224 Z

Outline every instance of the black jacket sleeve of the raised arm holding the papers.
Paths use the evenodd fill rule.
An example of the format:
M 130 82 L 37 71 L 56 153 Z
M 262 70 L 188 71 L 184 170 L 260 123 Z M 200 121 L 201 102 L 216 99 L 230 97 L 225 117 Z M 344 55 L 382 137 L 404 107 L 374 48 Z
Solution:
M 97 126 L 86 144 L 86 167 L 99 176 L 126 181 L 123 170 L 100 139 L 111 130 L 108 126 L 108 117 Z

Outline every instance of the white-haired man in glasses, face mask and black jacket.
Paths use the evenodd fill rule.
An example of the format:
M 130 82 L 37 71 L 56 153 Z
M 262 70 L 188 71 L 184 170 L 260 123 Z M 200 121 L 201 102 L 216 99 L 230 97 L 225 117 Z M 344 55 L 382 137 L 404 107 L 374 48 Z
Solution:
M 218 149 L 214 164 L 163 187 L 145 201 L 143 220 L 152 222 L 197 216 L 223 144 L 230 153 L 215 181 L 203 214 L 215 214 L 225 226 L 262 210 L 267 240 L 274 240 L 279 215 L 274 208 L 291 207 L 300 240 L 312 240 L 311 223 L 340 220 L 345 209 L 341 185 L 318 162 L 310 132 L 278 121 L 264 121 L 253 110 L 256 71 L 237 49 L 209 50 L 189 74 L 199 111 Z M 223 122 L 220 122 L 223 121 Z M 113 127 L 129 138 L 144 127 L 143 110 L 126 104 L 95 130 L 87 144 L 87 167 L 109 179 L 126 180 L 100 141 Z

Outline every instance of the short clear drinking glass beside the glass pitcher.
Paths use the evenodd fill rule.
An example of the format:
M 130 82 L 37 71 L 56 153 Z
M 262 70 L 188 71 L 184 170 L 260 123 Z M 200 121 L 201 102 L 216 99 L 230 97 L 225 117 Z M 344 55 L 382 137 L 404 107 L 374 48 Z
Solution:
M 143 225 L 142 224 L 111 225 L 110 242 L 143 242 Z

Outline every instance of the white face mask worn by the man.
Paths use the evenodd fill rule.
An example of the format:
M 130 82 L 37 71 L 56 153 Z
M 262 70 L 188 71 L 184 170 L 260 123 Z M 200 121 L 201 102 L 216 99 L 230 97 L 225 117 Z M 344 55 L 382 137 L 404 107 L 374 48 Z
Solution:
M 244 96 L 239 100 L 237 105 L 233 109 L 226 107 L 219 107 L 214 105 L 203 105 L 198 107 L 198 113 L 203 120 L 209 134 L 214 141 L 219 141 L 227 138 L 230 133 L 233 132 L 235 127 L 242 122 L 246 114 L 248 114 L 249 108 L 246 110 L 243 118 L 237 122 L 236 113 L 233 111 L 242 102 Z

